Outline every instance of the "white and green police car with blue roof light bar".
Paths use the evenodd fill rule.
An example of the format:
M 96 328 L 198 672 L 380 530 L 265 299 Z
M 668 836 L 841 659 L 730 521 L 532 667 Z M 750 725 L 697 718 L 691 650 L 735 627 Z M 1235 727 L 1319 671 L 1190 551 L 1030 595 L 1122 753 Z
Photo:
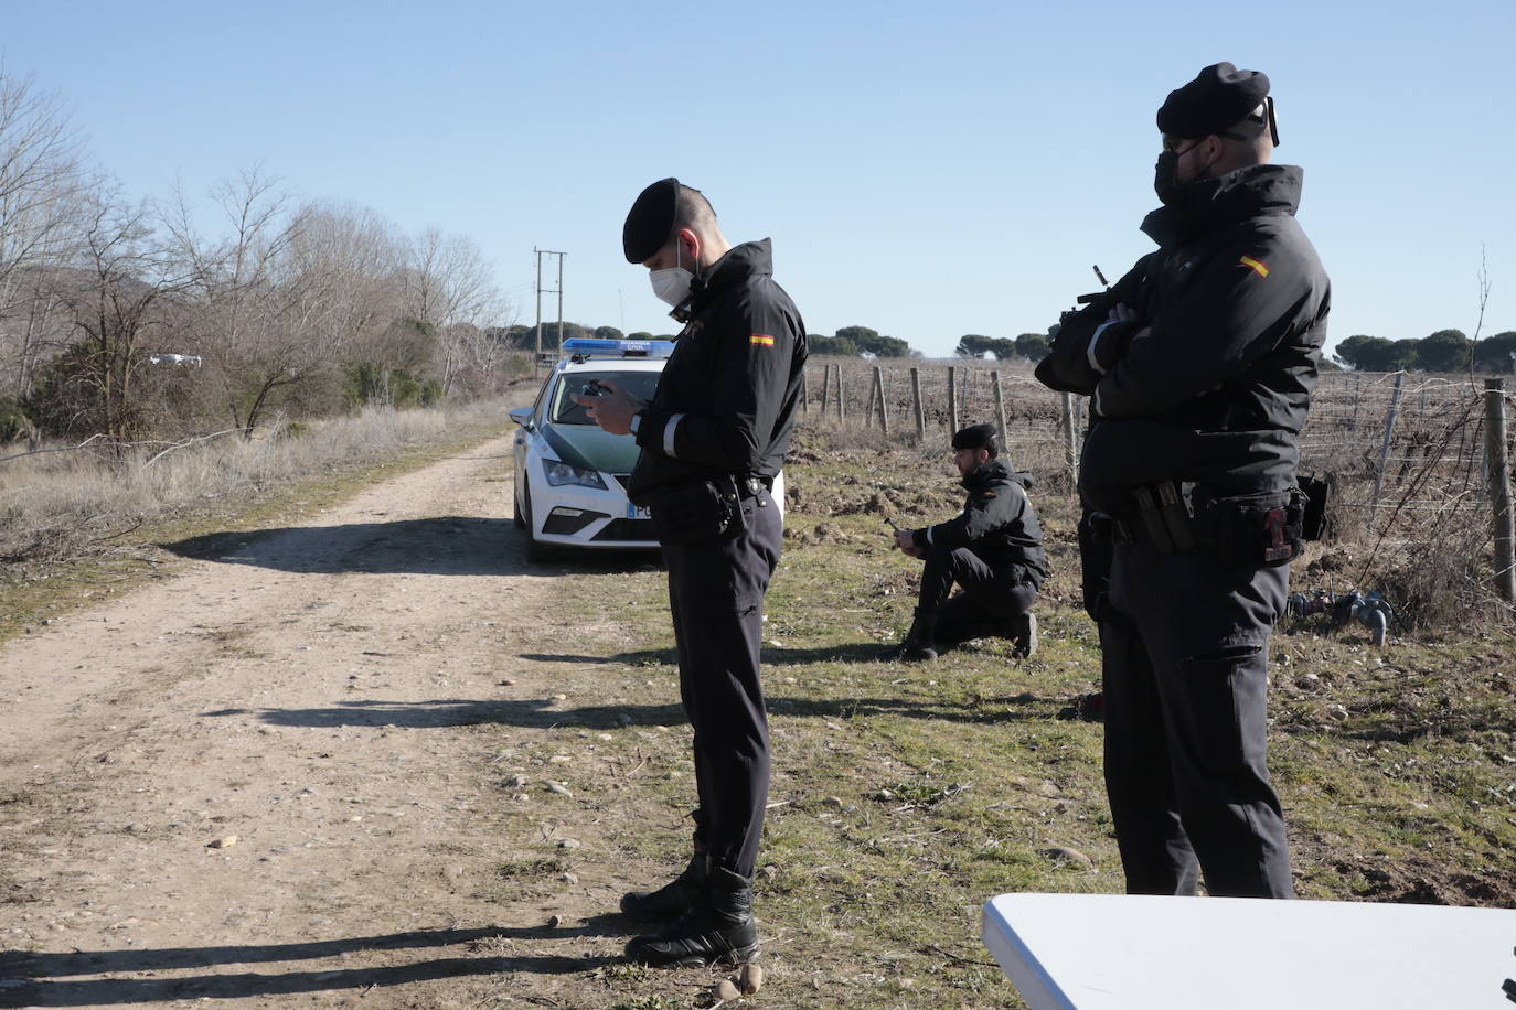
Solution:
M 608 379 L 652 400 L 673 341 L 568 339 L 531 407 L 511 410 L 515 432 L 515 527 L 528 560 L 561 547 L 658 547 L 647 509 L 626 500 L 637 462 L 631 435 L 611 435 L 570 397 Z

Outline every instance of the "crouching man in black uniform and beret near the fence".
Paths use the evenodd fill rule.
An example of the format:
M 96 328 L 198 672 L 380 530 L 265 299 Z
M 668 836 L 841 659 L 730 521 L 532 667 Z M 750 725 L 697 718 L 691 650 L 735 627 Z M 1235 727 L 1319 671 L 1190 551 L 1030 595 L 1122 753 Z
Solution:
M 916 619 L 896 650 L 901 659 L 937 659 L 938 647 L 975 637 L 1010 637 L 1020 656 L 1037 650 L 1031 606 L 1048 578 L 1048 556 L 1026 497 L 1032 475 L 998 456 L 988 424 L 954 435 L 952 462 L 969 492 L 963 515 L 894 531 L 902 553 L 926 560 Z M 949 598 L 954 583 L 963 592 Z

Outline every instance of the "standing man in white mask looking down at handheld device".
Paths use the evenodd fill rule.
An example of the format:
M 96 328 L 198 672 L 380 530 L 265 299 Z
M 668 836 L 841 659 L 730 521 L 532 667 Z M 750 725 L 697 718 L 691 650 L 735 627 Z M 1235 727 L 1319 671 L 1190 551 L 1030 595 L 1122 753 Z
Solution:
M 769 239 L 729 247 L 706 198 L 678 179 L 637 197 L 626 259 L 684 323 L 652 403 L 603 382 L 575 397 L 641 456 L 628 497 L 649 506 L 669 569 L 679 697 L 694 728 L 694 857 L 622 910 L 673 922 L 634 937 L 649 965 L 740 962 L 758 952 L 752 875 L 769 796 L 769 722 L 758 681 L 763 601 L 784 535 L 770 497 L 800 398 L 805 324 L 773 282 Z

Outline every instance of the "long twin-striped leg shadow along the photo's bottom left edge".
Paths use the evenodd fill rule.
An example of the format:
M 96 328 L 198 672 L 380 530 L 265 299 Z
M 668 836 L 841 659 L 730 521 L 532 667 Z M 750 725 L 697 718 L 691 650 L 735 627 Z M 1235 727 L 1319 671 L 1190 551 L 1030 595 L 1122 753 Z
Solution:
M 491 939 L 572 940 L 600 936 L 629 936 L 622 916 L 593 916 L 579 927 L 491 927 L 481 930 L 431 930 L 362 936 L 346 940 L 308 943 L 268 943 L 247 946 L 186 946 L 165 949 L 74 951 L 68 954 L 0 951 L 0 975 L 21 986 L 0 989 L 0 1007 L 103 1007 L 174 999 L 233 999 L 246 996 L 285 996 L 311 992 L 399 986 L 437 978 L 462 978 L 499 972 L 565 975 L 593 971 L 619 959 L 584 957 L 579 952 L 525 957 L 441 957 L 408 965 L 349 968 L 337 971 L 290 971 L 267 974 L 203 974 L 173 978 L 76 978 L 71 975 L 109 975 L 120 972 L 159 972 L 196 968 L 224 968 L 276 962 L 341 957 L 359 951 L 406 951 L 459 943 L 479 945 Z

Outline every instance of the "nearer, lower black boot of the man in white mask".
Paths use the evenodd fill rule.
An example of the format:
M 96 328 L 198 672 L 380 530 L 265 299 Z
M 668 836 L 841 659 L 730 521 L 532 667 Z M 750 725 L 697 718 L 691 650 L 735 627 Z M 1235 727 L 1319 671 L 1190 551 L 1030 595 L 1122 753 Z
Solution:
M 634 936 L 626 945 L 628 960 L 653 968 L 693 968 L 717 962 L 741 965 L 756 957 L 752 881 L 723 868 L 711 871 L 705 898 L 667 930 Z

